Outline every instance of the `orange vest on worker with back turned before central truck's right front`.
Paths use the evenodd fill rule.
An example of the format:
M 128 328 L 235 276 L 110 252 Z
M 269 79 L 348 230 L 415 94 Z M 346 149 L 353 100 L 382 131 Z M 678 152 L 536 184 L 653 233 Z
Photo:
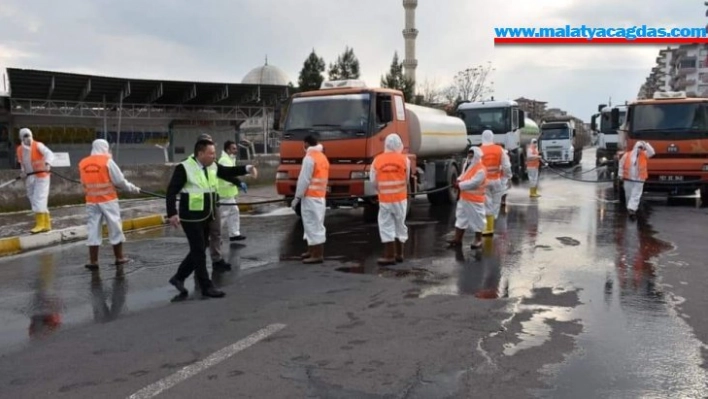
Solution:
M 408 199 L 406 159 L 405 155 L 395 152 L 384 152 L 374 159 L 380 203 L 392 204 Z

